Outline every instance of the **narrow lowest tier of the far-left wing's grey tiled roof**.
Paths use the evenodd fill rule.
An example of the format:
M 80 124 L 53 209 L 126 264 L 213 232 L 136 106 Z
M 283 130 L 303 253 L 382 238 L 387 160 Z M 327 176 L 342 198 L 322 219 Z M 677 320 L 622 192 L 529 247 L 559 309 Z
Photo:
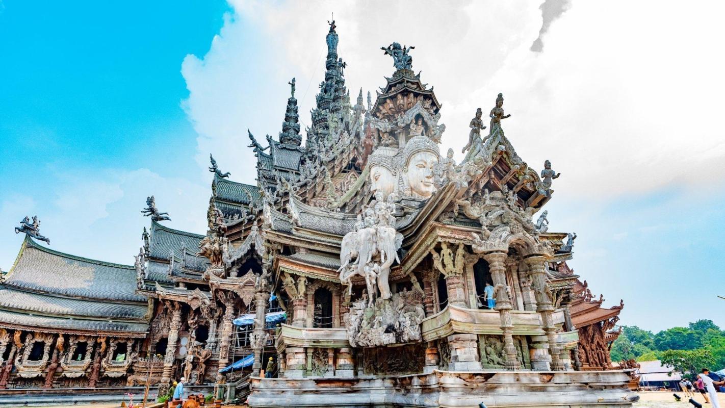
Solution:
M 22 325 L 58 330 L 91 330 L 99 332 L 145 333 L 149 325 L 143 322 L 117 322 L 115 320 L 79 320 L 66 317 L 30 316 L 26 313 L 0 310 L 0 326 Z

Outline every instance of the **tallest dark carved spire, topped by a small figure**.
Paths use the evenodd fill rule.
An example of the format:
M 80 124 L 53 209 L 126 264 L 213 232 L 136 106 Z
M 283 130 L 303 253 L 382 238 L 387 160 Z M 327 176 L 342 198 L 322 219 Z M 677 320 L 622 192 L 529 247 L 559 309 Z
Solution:
M 320 92 L 317 94 L 317 106 L 312 109 L 312 128 L 307 136 L 309 141 L 318 142 L 320 139 L 327 139 L 339 125 L 340 112 L 343 109 L 345 94 L 344 68 L 347 66 L 337 56 L 337 36 L 335 20 L 328 21 L 330 30 L 327 33 L 327 59 L 325 61 L 325 80 L 320 83 Z M 310 136 L 312 136 L 310 138 Z

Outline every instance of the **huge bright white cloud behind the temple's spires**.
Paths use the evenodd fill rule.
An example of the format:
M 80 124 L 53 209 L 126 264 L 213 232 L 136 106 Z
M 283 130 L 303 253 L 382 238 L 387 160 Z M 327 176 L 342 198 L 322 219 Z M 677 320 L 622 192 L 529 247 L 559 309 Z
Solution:
M 531 1 L 231 4 L 238 18 L 227 20 L 203 60 L 188 57 L 183 72 L 199 156 L 225 146 L 220 165 L 244 158 L 231 165 L 237 180 L 253 182 L 244 131 L 278 132 L 291 76 L 308 121 L 330 12 L 353 98 L 360 86 L 374 94 L 392 74 L 380 46 L 416 46 L 413 68 L 444 105 L 444 149 L 460 151 L 473 112 L 487 112 L 502 92 L 513 115 L 507 136 L 533 167 L 551 159 L 563 172 L 558 196 L 609 199 L 725 175 L 725 166 L 712 165 L 725 161 L 716 122 L 725 59 L 715 51 L 725 33 L 712 9 L 722 4 L 578 2 L 550 25 L 542 53 L 529 49 L 542 27 Z

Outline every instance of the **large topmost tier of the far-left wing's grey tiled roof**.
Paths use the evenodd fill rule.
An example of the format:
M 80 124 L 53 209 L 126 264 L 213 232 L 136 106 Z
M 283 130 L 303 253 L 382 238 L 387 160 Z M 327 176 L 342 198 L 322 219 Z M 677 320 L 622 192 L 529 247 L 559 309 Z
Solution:
M 5 286 L 91 299 L 146 301 L 136 293 L 136 270 L 75 257 L 45 248 L 28 238 Z

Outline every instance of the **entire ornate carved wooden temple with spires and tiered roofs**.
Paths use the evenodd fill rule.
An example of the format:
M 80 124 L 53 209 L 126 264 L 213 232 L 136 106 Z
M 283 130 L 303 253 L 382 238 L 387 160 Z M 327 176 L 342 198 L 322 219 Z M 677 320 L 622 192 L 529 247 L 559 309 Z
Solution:
M 125 266 L 41 246 L 25 220 L 0 284 L 0 388 L 185 377 L 251 407 L 631 405 L 609 358 L 624 305 L 566 264 L 576 234 L 542 211 L 559 175 L 518 157 L 503 96 L 457 164 L 413 47 L 384 48 L 392 76 L 353 104 L 338 41 L 332 22 L 304 145 L 293 79 L 278 138 L 249 133 L 256 186 L 211 158 L 206 234 L 162 225 L 149 197 Z

